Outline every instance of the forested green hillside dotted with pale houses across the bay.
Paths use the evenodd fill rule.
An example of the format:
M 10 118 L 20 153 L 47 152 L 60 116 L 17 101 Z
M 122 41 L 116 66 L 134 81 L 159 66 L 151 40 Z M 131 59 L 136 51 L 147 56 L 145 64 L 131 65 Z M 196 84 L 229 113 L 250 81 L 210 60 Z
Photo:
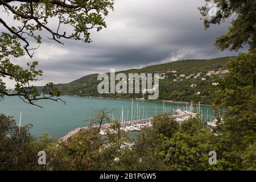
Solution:
M 230 57 L 209 60 L 180 60 L 130 69 L 122 73 L 160 73 L 159 100 L 213 102 L 216 79 L 226 72 Z M 141 98 L 142 94 L 99 94 L 97 74 L 88 75 L 68 84 L 56 85 L 63 94 L 114 98 Z M 147 96 L 145 96 L 147 98 Z

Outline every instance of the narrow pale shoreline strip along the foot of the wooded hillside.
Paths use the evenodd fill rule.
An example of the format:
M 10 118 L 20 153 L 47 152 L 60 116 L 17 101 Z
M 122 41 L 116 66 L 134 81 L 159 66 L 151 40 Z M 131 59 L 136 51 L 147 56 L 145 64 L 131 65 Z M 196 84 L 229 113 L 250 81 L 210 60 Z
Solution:
M 123 101 L 131 101 L 132 98 L 114 98 L 114 97 L 99 97 L 99 96 L 76 96 L 76 95 L 67 95 L 64 94 L 62 96 L 68 96 L 68 97 L 81 97 L 81 98 L 101 98 L 101 99 L 108 99 L 108 100 L 123 100 Z M 134 98 L 133 100 L 135 101 L 142 101 L 142 102 L 162 102 L 163 100 L 141 100 L 139 98 Z M 169 101 L 169 100 L 164 100 L 165 103 L 170 103 L 170 104 L 178 104 L 178 105 L 186 105 L 186 104 L 191 104 L 191 102 L 183 102 L 183 101 Z M 196 105 L 196 103 L 193 103 L 193 105 Z M 207 106 L 207 107 L 214 107 L 212 104 L 200 104 L 201 106 Z

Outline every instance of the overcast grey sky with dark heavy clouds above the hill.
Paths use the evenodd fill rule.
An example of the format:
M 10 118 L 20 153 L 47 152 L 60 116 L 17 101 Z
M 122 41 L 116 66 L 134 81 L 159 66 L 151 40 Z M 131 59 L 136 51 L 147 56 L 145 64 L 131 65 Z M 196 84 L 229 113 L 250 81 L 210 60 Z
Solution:
M 214 39 L 225 34 L 229 23 L 205 31 L 197 9 L 203 5 L 204 0 L 117 0 L 114 11 L 105 19 L 108 27 L 92 31 L 92 43 L 63 40 L 62 45 L 42 32 L 42 44 L 32 59 L 25 55 L 12 61 L 25 65 L 38 60 L 44 75 L 36 85 L 44 85 L 71 82 L 92 73 L 110 72 L 111 68 L 122 71 L 183 59 L 237 55 L 213 46 Z M 13 23 L 10 17 L 9 20 Z M 56 22 L 49 26 L 56 26 Z M 0 30 L 4 30 L 2 26 Z M 6 82 L 13 88 L 13 82 Z

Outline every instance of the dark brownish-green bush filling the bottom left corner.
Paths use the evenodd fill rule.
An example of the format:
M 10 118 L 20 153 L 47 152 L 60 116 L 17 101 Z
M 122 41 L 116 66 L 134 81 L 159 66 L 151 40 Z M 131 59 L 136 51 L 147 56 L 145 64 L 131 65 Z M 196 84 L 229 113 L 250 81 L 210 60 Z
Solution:
M 40 170 L 38 152 L 44 146 L 36 146 L 29 133 L 31 125 L 16 126 L 13 118 L 0 115 L 0 170 Z

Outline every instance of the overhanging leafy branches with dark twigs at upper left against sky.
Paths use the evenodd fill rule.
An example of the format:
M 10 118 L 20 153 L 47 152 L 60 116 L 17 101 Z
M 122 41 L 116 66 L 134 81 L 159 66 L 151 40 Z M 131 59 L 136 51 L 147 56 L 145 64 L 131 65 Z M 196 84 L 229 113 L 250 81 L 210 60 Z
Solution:
M 13 4 L 13 2 L 15 2 Z M 46 14 L 41 15 L 39 3 L 46 4 Z M 32 86 L 33 82 L 40 80 L 43 72 L 36 70 L 38 61 L 27 63 L 27 69 L 11 63 L 11 57 L 22 57 L 26 52 L 33 56 L 30 47 L 30 39 L 37 44 L 42 43 L 40 31 L 47 31 L 51 40 L 63 44 L 63 39 L 81 40 L 90 43 L 90 30 L 100 31 L 106 27 L 104 20 L 109 10 L 113 10 L 112 0 L 0 0 L 6 15 L 13 16 L 16 26 L 11 26 L 3 17 L 0 23 L 6 28 L 6 32 L 0 35 L 0 99 L 4 96 L 18 96 L 24 102 L 36 105 L 38 100 L 48 99 L 58 101 L 60 91 L 54 88 L 52 82 L 38 90 Z M 55 28 L 49 26 L 49 20 L 58 21 Z M 68 30 L 61 31 L 65 26 Z M 8 77 L 15 81 L 15 90 L 11 92 L 7 88 L 2 77 Z

